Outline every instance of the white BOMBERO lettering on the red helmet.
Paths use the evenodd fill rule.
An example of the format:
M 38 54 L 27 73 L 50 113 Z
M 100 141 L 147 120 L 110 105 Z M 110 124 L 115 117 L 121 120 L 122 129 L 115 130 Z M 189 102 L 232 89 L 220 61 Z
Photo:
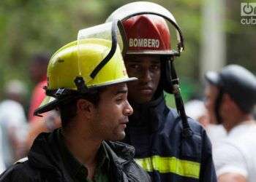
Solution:
M 159 48 L 159 39 L 129 39 L 129 47 L 156 47 Z

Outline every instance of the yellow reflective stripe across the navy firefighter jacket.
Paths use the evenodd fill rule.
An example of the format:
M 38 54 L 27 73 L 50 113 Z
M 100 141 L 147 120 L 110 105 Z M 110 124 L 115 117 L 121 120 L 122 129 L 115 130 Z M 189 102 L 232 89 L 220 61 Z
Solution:
M 135 159 L 135 162 L 148 172 L 158 170 L 159 173 L 175 173 L 190 178 L 199 178 L 200 174 L 199 162 L 181 160 L 176 157 L 152 156 L 144 159 Z

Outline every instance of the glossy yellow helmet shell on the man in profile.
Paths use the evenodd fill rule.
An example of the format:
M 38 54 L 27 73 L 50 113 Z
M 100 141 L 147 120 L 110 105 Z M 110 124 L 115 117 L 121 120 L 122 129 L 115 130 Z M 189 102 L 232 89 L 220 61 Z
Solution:
M 108 55 L 110 48 L 111 41 L 105 39 L 84 39 L 79 44 L 73 41 L 62 47 L 48 65 L 48 90 L 77 90 L 74 82 L 77 76 L 83 78 L 88 88 L 130 80 L 119 48 L 97 76 L 91 78 L 90 74 Z

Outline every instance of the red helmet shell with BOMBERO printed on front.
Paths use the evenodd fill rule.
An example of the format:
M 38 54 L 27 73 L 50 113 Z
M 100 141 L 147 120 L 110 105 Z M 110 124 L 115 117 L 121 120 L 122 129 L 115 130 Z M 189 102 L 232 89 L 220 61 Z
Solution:
M 127 54 L 170 53 L 170 31 L 165 19 L 157 15 L 138 15 L 124 20 Z

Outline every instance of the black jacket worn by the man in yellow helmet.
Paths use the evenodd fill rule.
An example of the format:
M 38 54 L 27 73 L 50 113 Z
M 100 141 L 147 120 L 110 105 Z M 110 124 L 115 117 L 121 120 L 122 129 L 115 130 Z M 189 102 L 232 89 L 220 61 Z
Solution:
M 29 151 L 28 160 L 12 165 L 0 181 L 73 181 L 64 167 L 57 131 L 41 133 Z M 121 142 L 102 142 L 110 157 L 111 181 L 150 181 L 147 173 L 133 160 L 134 148 Z

